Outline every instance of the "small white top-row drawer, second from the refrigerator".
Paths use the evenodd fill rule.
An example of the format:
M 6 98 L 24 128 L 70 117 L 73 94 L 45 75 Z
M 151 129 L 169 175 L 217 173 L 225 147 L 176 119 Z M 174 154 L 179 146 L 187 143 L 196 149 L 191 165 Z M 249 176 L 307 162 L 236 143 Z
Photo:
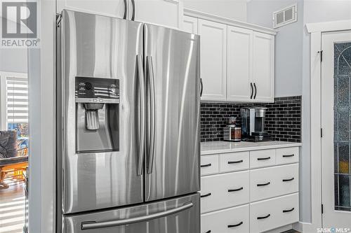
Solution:
M 249 169 L 249 151 L 227 153 L 220 155 L 220 172 L 239 171 Z

